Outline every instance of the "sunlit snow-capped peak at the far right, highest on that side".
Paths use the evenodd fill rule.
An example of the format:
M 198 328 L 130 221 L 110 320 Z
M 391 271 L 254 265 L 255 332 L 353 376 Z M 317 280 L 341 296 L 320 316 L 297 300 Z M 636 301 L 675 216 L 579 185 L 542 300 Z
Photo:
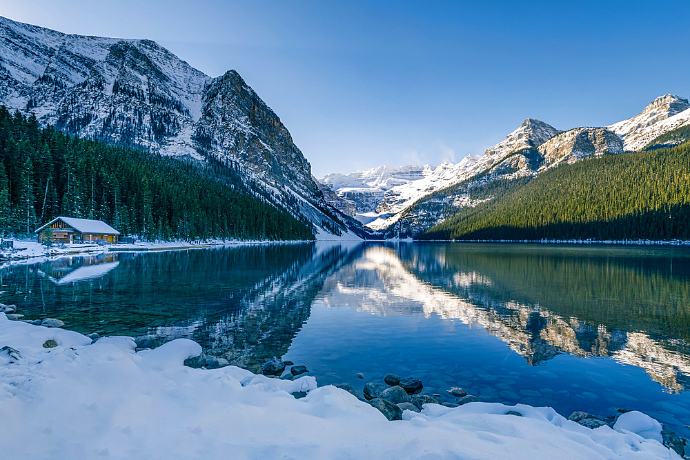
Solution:
M 664 94 L 654 99 L 635 117 L 607 126 L 623 141 L 625 150 L 641 150 L 653 139 L 690 123 L 690 103 L 687 99 Z

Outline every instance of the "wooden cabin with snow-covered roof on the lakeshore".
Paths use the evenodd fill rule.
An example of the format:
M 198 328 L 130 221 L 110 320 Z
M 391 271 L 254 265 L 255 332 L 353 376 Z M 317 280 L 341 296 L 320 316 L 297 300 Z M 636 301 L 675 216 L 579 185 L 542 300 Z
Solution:
M 54 243 L 117 243 L 120 232 L 103 221 L 56 217 L 36 229 L 39 241 L 50 239 Z

